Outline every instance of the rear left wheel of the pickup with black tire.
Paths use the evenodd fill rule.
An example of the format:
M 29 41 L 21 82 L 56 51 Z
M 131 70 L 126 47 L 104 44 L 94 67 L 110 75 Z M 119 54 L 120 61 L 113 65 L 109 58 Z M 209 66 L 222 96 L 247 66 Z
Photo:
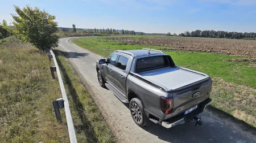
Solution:
M 143 127 L 146 125 L 146 114 L 144 112 L 144 108 L 142 102 L 138 98 L 133 98 L 130 101 L 130 112 L 131 117 L 133 118 L 134 122 L 139 125 L 139 127 Z

